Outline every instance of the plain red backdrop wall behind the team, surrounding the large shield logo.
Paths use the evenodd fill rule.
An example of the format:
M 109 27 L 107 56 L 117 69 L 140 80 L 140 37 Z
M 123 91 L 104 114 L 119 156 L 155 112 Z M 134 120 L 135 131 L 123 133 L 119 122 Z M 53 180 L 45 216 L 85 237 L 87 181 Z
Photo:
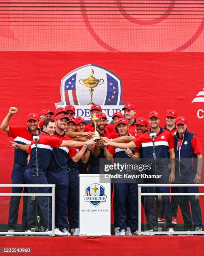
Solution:
M 204 118 L 197 116 L 198 110 L 200 117 L 204 115 L 204 102 L 192 103 L 204 87 L 203 53 L 8 51 L 0 52 L 0 59 L 0 122 L 10 106 L 18 108 L 18 113 L 10 120 L 12 125 L 26 125 L 27 113 L 38 113 L 43 108 L 54 110 L 55 103 L 61 102 L 62 77 L 92 63 L 120 77 L 122 102 L 133 103 L 137 117 L 147 118 L 149 111 L 157 110 L 163 126 L 167 109 L 173 108 L 187 118 L 189 131 L 197 133 L 204 149 Z M 0 138 L 0 183 L 10 183 L 11 139 L 3 131 L 0 131 Z M 7 212 L 0 222 L 5 216 Z

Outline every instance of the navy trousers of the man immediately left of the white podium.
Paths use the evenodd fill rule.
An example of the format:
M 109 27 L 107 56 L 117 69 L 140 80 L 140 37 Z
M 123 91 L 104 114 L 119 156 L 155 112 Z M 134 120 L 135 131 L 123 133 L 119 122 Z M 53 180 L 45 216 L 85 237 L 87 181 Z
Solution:
M 67 200 L 68 221 L 70 228 L 79 228 L 79 170 L 75 168 L 68 172 L 69 192 Z

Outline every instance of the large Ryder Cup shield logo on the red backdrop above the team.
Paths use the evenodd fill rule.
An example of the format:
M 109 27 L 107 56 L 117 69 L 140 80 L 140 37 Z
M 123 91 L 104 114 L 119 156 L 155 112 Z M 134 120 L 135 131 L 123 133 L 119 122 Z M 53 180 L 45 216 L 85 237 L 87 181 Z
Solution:
M 102 111 L 111 120 L 114 112 L 121 112 L 122 81 L 111 71 L 88 64 L 79 67 L 61 80 L 61 100 L 56 108 L 75 105 L 76 116 L 90 118 L 91 105 L 101 105 Z

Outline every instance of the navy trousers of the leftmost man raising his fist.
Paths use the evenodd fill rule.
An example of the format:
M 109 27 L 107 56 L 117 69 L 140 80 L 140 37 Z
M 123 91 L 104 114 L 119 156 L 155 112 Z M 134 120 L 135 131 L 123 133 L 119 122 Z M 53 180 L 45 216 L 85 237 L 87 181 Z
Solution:
M 26 166 L 14 164 L 11 174 L 12 184 L 25 184 L 24 172 Z M 12 193 L 27 193 L 27 187 L 12 187 Z M 22 210 L 22 231 L 27 230 L 27 200 L 28 197 L 23 197 Z M 12 196 L 10 199 L 9 216 L 8 216 L 8 230 L 14 229 L 18 220 L 18 209 L 20 204 L 20 197 Z

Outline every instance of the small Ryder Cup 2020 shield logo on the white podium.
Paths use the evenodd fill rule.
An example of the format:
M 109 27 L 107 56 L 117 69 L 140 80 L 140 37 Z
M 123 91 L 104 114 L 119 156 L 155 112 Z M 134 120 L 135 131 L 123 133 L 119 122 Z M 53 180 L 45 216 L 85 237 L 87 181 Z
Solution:
M 93 183 L 86 187 L 85 193 L 85 202 L 90 202 L 93 206 L 100 205 L 101 202 L 106 201 L 105 188 L 98 183 Z

